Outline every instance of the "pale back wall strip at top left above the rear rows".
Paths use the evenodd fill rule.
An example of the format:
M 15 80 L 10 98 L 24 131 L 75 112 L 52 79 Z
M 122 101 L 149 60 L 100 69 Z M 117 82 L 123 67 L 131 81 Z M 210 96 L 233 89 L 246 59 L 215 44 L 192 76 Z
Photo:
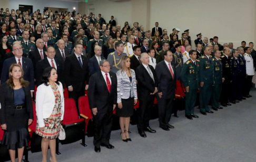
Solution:
M 68 8 L 72 12 L 73 7 L 78 8 L 78 2 L 56 1 L 56 0 L 9 0 L 9 9 L 18 9 L 19 5 L 33 5 L 33 11 L 40 9 L 43 13 L 44 7 Z M 77 9 L 76 9 L 77 10 Z

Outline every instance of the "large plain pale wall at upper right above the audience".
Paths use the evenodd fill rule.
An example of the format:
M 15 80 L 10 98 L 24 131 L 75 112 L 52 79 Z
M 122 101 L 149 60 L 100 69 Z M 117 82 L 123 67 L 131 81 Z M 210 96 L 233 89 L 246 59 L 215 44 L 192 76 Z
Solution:
M 233 42 L 236 48 L 242 40 L 255 40 L 254 10 L 255 0 L 151 0 L 150 24 L 152 28 L 158 21 L 169 34 L 180 28 L 179 38 L 190 29 L 193 42 L 199 33 L 209 39 L 218 36 L 221 44 Z

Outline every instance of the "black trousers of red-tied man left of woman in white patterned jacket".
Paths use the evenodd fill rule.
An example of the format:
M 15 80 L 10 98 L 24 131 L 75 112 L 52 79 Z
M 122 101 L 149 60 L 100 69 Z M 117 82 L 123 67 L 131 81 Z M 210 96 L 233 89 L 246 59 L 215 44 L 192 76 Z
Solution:
M 106 107 L 107 112 L 97 112 L 93 115 L 94 120 L 94 138 L 93 145 L 100 147 L 101 144 L 110 144 L 111 127 L 113 122 L 113 105 Z

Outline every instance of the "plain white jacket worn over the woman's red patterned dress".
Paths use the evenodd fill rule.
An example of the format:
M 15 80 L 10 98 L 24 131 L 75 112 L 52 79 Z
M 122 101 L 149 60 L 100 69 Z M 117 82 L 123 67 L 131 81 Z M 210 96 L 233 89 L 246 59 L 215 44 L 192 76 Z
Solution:
M 64 117 L 64 94 L 62 89 L 62 83 L 57 85 L 61 94 L 61 120 Z M 41 84 L 36 91 L 36 116 L 39 127 L 44 127 L 44 118 L 51 116 L 55 105 L 55 96 L 50 85 L 46 86 Z

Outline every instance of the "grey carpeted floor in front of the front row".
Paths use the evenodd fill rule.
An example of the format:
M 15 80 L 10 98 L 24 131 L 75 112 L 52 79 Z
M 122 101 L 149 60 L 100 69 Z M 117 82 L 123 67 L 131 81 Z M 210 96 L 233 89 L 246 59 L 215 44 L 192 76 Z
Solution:
M 121 140 L 120 131 L 113 131 L 110 150 L 101 147 L 101 153 L 94 152 L 93 137 L 86 136 L 87 147 L 80 142 L 61 145 L 61 155 L 57 160 L 73 161 L 178 161 L 178 162 L 255 162 L 256 161 L 256 91 L 252 98 L 241 103 L 224 107 L 206 116 L 195 109 L 199 118 L 188 120 L 184 111 L 179 118 L 172 117 L 170 124 L 175 126 L 169 132 L 159 127 L 157 120 L 150 121 L 155 134 L 146 133 L 142 138 L 136 125 L 130 127 L 132 142 Z M 48 159 L 50 152 L 48 152 Z M 29 161 L 41 161 L 41 153 L 29 152 Z

